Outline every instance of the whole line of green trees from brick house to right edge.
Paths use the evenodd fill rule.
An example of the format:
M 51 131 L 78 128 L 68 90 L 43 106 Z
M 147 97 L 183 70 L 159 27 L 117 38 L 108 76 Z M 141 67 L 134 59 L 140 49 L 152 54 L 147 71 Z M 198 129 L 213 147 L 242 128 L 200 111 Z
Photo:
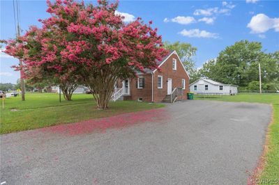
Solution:
M 259 64 L 262 72 L 262 89 L 279 89 L 279 51 L 266 53 L 261 42 L 241 40 L 220 51 L 217 58 L 206 61 L 201 68 L 195 68 L 197 48 L 188 43 L 165 42 L 167 49 L 176 49 L 186 70 L 190 82 L 202 77 L 226 84 L 234 84 L 240 90 L 259 90 Z

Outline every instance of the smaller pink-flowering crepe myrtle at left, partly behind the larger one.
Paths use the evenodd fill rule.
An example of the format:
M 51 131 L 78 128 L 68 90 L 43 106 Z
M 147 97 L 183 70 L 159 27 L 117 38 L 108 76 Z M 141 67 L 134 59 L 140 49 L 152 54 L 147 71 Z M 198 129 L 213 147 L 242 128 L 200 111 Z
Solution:
M 47 83 L 58 85 L 66 100 L 71 100 L 73 91 L 77 88 L 81 78 L 73 72 L 73 66 L 68 61 L 63 61 L 60 50 L 64 40 L 63 34 L 58 30 L 50 31 L 44 27 L 38 29 L 31 26 L 29 31 L 15 40 L 5 40 L 6 54 L 19 58 L 22 65 L 12 66 L 15 70 L 22 70 L 24 79 L 29 83 Z

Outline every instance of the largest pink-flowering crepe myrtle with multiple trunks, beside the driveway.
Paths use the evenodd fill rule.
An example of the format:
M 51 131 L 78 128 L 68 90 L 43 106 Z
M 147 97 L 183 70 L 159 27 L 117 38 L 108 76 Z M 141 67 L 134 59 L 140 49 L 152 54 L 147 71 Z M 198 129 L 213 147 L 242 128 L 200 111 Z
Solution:
M 31 33 L 22 39 L 27 42 L 21 51 L 24 71 L 71 83 L 73 79 L 82 81 L 100 109 L 108 107 L 117 79 L 135 77 L 144 68 L 158 68 L 156 61 L 167 54 L 152 22 L 144 24 L 138 18 L 125 24 L 123 17 L 115 14 L 118 2 L 101 0 L 93 6 L 56 0 L 47 1 L 47 6 L 51 17 L 41 21 L 42 29 L 31 27 L 29 31 L 35 33 L 31 39 L 31 45 L 38 45 L 35 54 L 30 55 L 33 46 L 25 49 Z

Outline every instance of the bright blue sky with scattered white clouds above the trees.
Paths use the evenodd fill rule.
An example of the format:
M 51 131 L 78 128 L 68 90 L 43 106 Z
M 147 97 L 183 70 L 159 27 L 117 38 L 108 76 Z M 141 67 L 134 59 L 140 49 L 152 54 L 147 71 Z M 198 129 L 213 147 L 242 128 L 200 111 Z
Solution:
M 86 1 L 86 3 L 91 1 Z M 96 1 L 93 1 L 96 3 Z M 20 26 L 40 26 L 49 15 L 45 1 L 20 1 Z M 279 1 L 120 1 L 118 13 L 126 22 L 142 17 L 153 21 L 163 40 L 188 42 L 197 47 L 196 67 L 239 40 L 262 42 L 267 52 L 279 50 Z M 1 1 L 0 39 L 15 38 L 13 1 Z M 1 82 L 20 77 L 11 65 L 17 59 L 1 53 Z

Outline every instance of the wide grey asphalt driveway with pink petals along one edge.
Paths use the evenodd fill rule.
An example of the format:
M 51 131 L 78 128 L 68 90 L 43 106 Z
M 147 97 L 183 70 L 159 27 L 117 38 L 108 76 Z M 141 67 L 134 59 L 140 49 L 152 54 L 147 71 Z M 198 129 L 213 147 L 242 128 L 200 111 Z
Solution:
M 5 134 L 1 182 L 246 184 L 270 118 L 266 104 L 187 101 L 98 120 L 103 128 L 92 121 Z

